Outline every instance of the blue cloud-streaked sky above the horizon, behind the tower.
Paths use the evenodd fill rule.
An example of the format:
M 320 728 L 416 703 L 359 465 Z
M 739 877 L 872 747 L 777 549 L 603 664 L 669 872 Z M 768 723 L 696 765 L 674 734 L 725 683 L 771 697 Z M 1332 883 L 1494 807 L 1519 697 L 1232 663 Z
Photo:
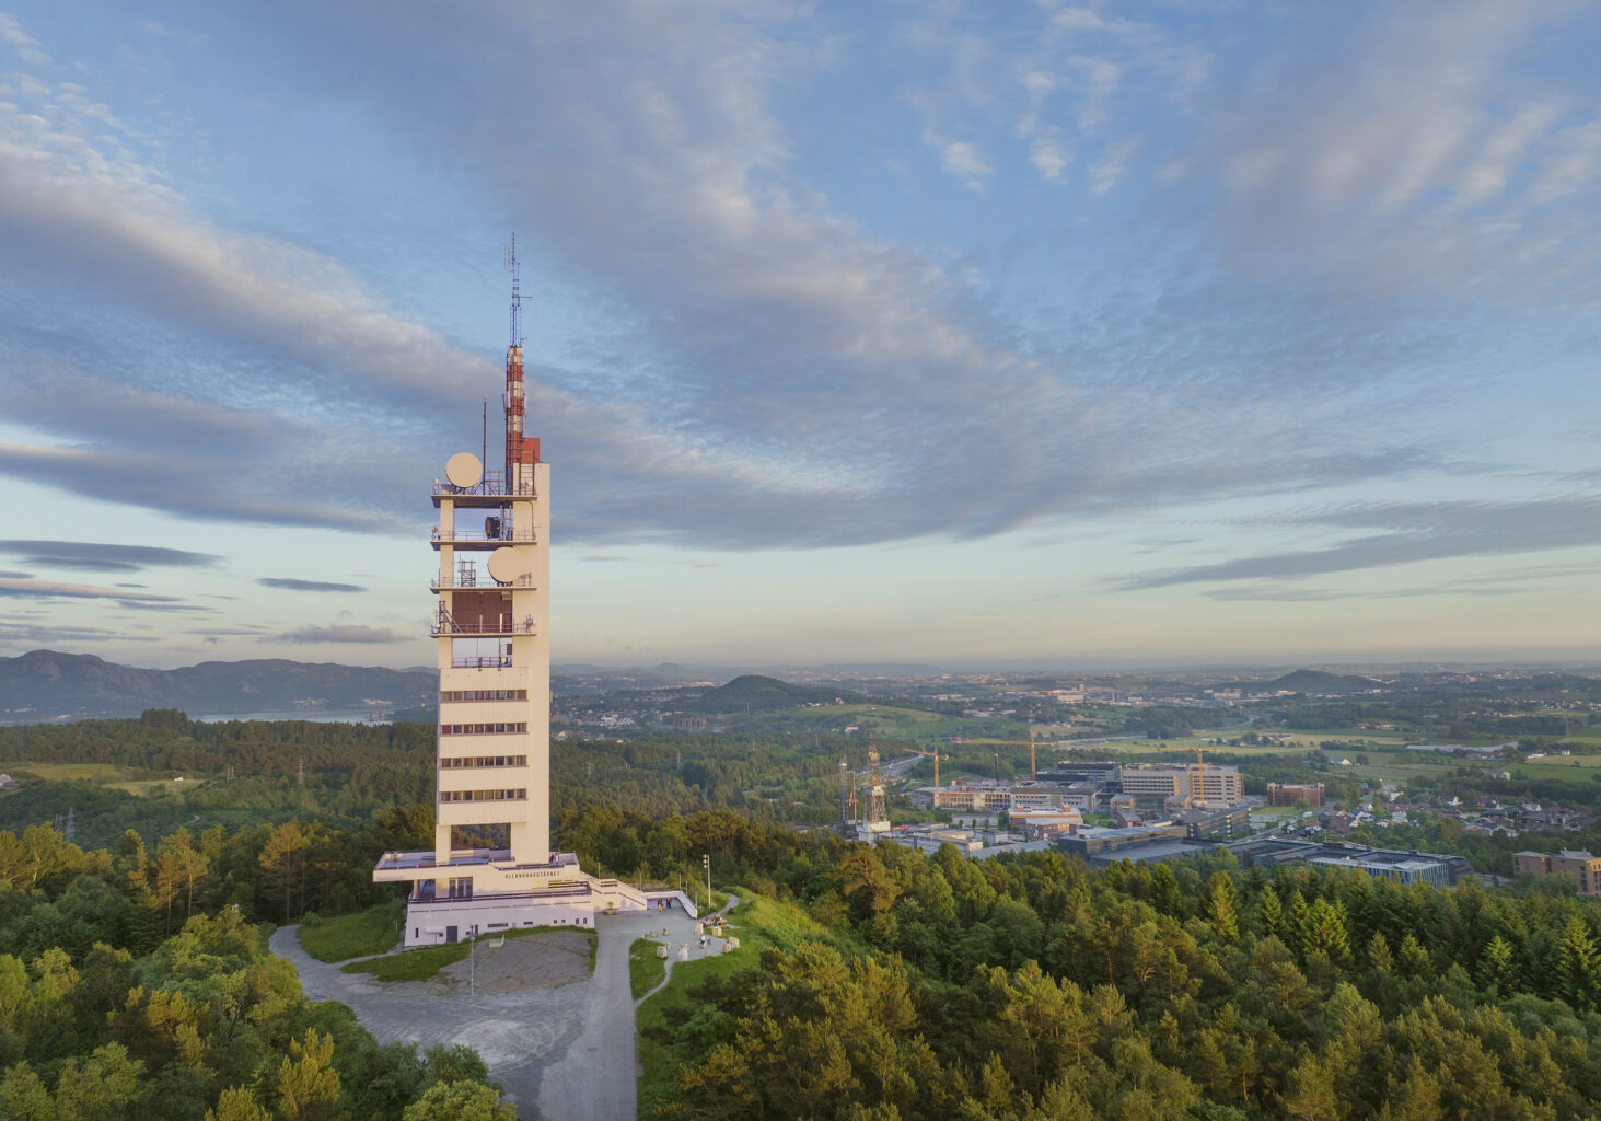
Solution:
M 1601 658 L 1596 43 L 0 0 L 0 657 L 432 663 L 516 235 L 559 663 Z

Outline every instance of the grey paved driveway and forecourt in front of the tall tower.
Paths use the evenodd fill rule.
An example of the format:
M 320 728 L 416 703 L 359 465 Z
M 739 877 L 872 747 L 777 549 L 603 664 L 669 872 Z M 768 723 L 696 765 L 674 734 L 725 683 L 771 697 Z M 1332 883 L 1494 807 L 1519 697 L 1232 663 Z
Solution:
M 730 897 L 727 906 L 736 903 L 738 898 Z M 339 966 L 301 950 L 291 926 L 274 932 L 271 946 L 293 962 L 307 998 L 347 1004 L 379 1043 L 407 1039 L 423 1049 L 435 1043 L 474 1047 L 490 1076 L 517 1102 L 524 1121 L 634 1121 L 640 1073 L 634 1051 L 639 1001 L 629 993 L 629 946 L 642 937 L 664 942 L 669 977 L 680 945 L 690 946 L 692 958 L 703 958 L 704 951 L 696 943 L 695 919 L 682 910 L 602 914 L 596 927 L 600 943 L 592 975 L 516 993 L 469 994 L 463 983 L 384 983 L 371 974 L 344 974 Z M 532 940 L 512 938 L 488 953 L 503 954 L 519 943 Z M 722 943 L 714 942 L 712 950 L 720 948 Z M 484 943 L 479 951 L 484 953 Z M 466 962 L 451 966 L 453 972 L 464 969 Z

